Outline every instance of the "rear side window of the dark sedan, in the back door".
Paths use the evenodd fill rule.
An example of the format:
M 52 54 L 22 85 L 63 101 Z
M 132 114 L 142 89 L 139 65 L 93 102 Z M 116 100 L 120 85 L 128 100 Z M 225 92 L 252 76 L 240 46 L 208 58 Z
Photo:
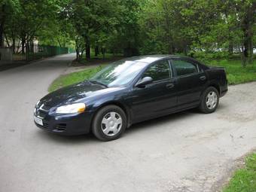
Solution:
M 194 64 L 184 60 L 173 59 L 172 66 L 178 76 L 189 75 L 197 72 L 197 66 L 194 66 Z

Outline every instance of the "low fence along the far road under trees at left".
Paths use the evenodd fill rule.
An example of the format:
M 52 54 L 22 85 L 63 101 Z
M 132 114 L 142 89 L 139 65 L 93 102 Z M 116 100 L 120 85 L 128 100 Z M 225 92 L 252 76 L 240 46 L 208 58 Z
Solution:
M 33 45 L 29 47 L 12 47 L 13 60 L 26 60 L 31 61 L 35 59 L 41 59 L 48 56 L 56 56 L 60 54 L 69 53 L 67 47 L 56 47 L 48 45 Z

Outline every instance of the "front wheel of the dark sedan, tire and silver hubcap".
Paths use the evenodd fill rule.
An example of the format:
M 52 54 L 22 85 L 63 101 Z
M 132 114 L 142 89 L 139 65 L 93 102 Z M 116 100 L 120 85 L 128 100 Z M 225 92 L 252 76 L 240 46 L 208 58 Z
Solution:
M 107 105 L 93 118 L 92 131 L 96 138 L 108 142 L 118 139 L 126 129 L 126 114 L 117 105 Z

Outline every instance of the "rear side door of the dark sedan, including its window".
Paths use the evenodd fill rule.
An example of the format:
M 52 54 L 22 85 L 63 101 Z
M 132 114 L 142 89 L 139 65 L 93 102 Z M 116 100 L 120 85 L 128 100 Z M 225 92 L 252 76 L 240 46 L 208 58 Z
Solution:
M 171 62 L 177 84 L 177 109 L 198 105 L 206 84 L 205 73 L 190 59 L 172 59 Z

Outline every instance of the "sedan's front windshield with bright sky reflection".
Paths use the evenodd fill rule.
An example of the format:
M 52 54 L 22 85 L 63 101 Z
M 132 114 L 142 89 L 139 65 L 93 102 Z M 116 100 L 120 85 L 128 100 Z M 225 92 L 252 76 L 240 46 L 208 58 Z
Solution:
M 147 66 L 146 62 L 123 59 L 105 67 L 96 73 L 93 78 L 90 78 L 90 81 L 105 84 L 108 87 L 122 86 L 133 81 L 145 66 Z

